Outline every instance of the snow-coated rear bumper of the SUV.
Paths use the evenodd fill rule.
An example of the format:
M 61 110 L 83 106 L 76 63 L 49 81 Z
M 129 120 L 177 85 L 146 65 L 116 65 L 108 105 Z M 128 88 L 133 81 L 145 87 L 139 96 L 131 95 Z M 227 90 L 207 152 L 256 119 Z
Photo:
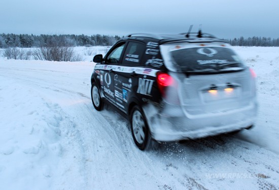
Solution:
M 227 112 L 189 115 L 181 108 L 169 113 L 156 113 L 148 118 L 150 132 L 157 141 L 178 141 L 214 136 L 253 125 L 257 115 L 257 103 Z

